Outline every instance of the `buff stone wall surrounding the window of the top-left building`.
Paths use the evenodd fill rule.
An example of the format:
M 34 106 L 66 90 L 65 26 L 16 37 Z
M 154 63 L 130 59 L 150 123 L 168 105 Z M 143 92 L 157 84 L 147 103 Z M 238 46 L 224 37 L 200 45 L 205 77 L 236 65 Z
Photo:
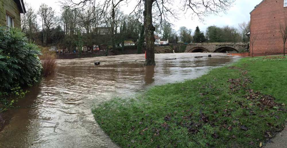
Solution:
M 0 0 L 0 25 L 6 25 L 6 13 L 14 18 L 14 27 L 20 28 L 20 10 L 14 0 Z

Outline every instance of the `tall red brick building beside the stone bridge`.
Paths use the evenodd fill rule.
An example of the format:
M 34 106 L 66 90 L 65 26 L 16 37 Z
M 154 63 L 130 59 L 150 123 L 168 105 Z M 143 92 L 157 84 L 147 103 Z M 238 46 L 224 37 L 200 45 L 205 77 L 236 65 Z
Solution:
M 287 16 L 287 0 L 263 0 L 250 12 L 250 52 L 254 56 L 283 54 L 280 22 Z M 283 23 L 283 22 L 282 22 Z

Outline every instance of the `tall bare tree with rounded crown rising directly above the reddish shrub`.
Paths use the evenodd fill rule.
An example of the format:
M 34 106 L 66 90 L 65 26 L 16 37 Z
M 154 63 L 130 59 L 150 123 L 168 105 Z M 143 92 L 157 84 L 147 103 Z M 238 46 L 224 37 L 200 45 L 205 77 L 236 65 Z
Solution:
M 48 5 L 43 3 L 42 5 L 40 5 L 38 15 L 41 17 L 43 44 L 46 46 L 48 31 L 51 29 L 51 27 L 55 26 L 55 10 L 53 10 L 52 7 L 48 7 Z

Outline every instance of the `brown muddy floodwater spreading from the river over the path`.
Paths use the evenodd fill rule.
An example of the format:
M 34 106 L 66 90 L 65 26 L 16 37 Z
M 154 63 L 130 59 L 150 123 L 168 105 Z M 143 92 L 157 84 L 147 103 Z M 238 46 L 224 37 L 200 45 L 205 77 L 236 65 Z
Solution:
M 156 66 L 143 66 L 144 54 L 58 60 L 57 72 L 30 88 L 19 107 L 5 113 L 11 120 L 0 133 L 0 147 L 117 147 L 100 129 L 91 109 L 113 96 L 197 78 L 238 59 L 207 55 L 156 54 Z M 96 61 L 101 65 L 94 66 Z

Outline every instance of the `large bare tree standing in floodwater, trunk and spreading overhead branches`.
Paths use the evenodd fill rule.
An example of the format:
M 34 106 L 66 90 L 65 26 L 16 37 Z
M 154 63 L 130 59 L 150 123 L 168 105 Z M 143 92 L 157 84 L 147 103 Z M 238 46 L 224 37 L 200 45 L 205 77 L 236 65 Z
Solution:
M 64 7 L 69 8 L 82 8 L 86 5 L 92 5 L 96 7 L 97 0 L 80 0 L 74 2 L 73 0 L 63 0 Z M 102 7 L 102 13 L 108 12 L 107 10 L 112 7 L 115 8 L 121 2 L 128 3 L 127 0 L 104 0 Z M 218 14 L 219 12 L 226 12 L 235 0 L 182 0 L 177 1 L 177 6 L 184 13 L 190 13 L 191 17 L 197 16 L 200 20 L 203 20 L 205 16 L 209 14 Z M 134 7 L 131 13 L 138 14 L 142 12 L 141 9 L 144 6 L 144 28 L 145 28 L 145 40 L 146 40 L 146 65 L 155 65 L 154 61 L 154 31 L 153 16 L 157 16 L 159 23 L 163 23 L 167 19 L 168 15 L 175 16 L 177 12 L 174 8 L 173 0 L 137 0 L 137 5 Z M 175 17 L 173 17 L 175 18 Z

